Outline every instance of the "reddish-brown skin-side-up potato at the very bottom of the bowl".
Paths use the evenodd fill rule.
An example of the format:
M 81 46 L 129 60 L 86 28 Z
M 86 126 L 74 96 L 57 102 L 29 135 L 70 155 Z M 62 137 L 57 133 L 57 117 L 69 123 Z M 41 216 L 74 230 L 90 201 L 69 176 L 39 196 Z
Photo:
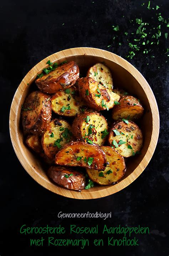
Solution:
M 78 191 L 85 188 L 84 174 L 71 169 L 71 167 L 51 166 L 47 171 L 47 175 L 64 188 Z

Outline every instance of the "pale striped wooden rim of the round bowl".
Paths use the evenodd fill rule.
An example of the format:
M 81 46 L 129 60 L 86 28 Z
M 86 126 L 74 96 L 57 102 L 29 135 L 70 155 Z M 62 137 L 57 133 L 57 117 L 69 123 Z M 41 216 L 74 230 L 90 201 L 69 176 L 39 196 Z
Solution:
M 81 193 L 77 191 L 68 190 L 65 188 L 61 188 L 57 186 L 57 184 L 50 184 L 50 182 L 47 182 L 47 179 L 44 182 L 44 177 L 42 177 L 34 168 L 33 166 L 25 161 L 26 154 L 23 151 L 22 147 L 20 147 L 20 139 L 19 139 L 19 122 L 17 118 L 17 113 L 20 112 L 21 104 L 20 100 L 22 98 L 22 92 L 26 89 L 28 86 L 27 83 L 31 84 L 31 81 L 35 79 L 35 76 L 40 73 L 40 71 L 46 67 L 46 62 L 50 59 L 51 62 L 56 62 L 58 60 L 64 59 L 66 60 L 66 57 L 73 57 L 73 56 L 80 56 L 80 55 L 89 55 L 89 56 L 95 56 L 95 57 L 102 57 L 106 58 L 109 61 L 113 61 L 119 66 L 123 67 L 125 70 L 127 70 L 140 84 L 140 86 L 144 89 L 145 94 L 147 95 L 147 98 L 149 100 L 150 109 L 152 111 L 152 117 L 155 117 L 155 120 L 153 118 L 152 123 L 152 134 L 150 138 L 150 144 L 147 149 L 147 152 L 145 153 L 142 161 L 139 163 L 139 165 L 134 169 L 134 171 L 129 174 L 125 179 L 121 180 L 121 182 L 117 183 L 116 185 L 112 186 L 100 186 L 99 190 L 97 191 L 90 191 L 90 190 L 82 190 Z M 106 56 L 105 56 L 106 55 Z M 29 77 L 29 79 L 28 79 Z M 15 104 L 17 102 L 18 104 Z M 10 108 L 10 117 L 9 117 L 9 128 L 10 128 L 10 137 L 12 146 L 14 148 L 14 151 L 16 153 L 17 158 L 19 159 L 21 165 L 24 167 L 26 172 L 40 185 L 42 185 L 44 188 L 62 195 L 66 196 L 68 198 L 74 198 L 74 199 L 96 199 L 96 198 L 102 198 L 108 195 L 112 195 L 114 193 L 117 193 L 118 191 L 126 188 L 128 185 L 130 185 L 137 177 L 144 171 L 145 167 L 148 165 L 149 161 L 151 160 L 153 153 L 155 151 L 155 147 L 158 142 L 158 136 L 159 136 L 159 111 L 157 102 L 155 99 L 155 96 L 153 94 L 153 91 L 151 87 L 149 86 L 148 82 L 145 80 L 143 75 L 127 60 L 124 60 L 122 57 L 118 56 L 117 54 L 114 54 L 112 52 L 108 52 L 103 49 L 93 48 L 93 47 L 76 47 L 76 48 L 70 48 L 65 49 L 56 53 L 51 54 L 50 56 L 47 56 L 40 62 L 38 62 L 34 67 L 31 68 L 31 70 L 25 75 L 24 79 L 20 82 L 20 85 L 18 86 L 14 98 L 11 103 Z M 31 168 L 31 169 L 30 169 Z M 56 189 L 57 188 L 57 189 Z M 98 193 L 99 192 L 99 193 Z

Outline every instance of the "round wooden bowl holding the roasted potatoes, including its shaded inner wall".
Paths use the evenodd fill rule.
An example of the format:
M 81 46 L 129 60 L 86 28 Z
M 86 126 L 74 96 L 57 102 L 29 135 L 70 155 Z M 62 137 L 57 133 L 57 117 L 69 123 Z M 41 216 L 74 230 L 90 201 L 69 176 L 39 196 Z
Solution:
M 136 95 L 145 109 L 143 118 L 139 126 L 143 131 L 144 143 L 142 154 L 130 157 L 126 163 L 127 171 L 123 179 L 116 185 L 94 186 L 89 190 L 77 191 L 68 190 L 52 183 L 45 172 L 42 161 L 37 159 L 29 148 L 25 146 L 25 138 L 20 124 L 21 105 L 24 103 L 26 95 L 29 93 L 31 83 L 35 81 L 37 73 L 47 67 L 46 62 L 61 63 L 63 61 L 74 60 L 80 68 L 80 72 L 85 76 L 89 67 L 97 62 L 104 62 L 111 72 L 114 86 L 118 86 L 128 91 L 131 95 Z M 29 85 L 28 85 L 29 84 Z M 110 112 L 111 114 L 111 112 Z M 44 188 L 52 192 L 76 199 L 93 199 L 111 195 L 126 188 L 143 172 L 153 156 L 159 135 L 159 112 L 154 94 L 144 79 L 142 74 L 123 58 L 96 48 L 72 48 L 57 52 L 48 56 L 35 67 L 33 67 L 16 90 L 10 110 L 10 136 L 15 153 L 24 169 L 29 175 Z M 137 191 L 136 191 L 137 193 Z

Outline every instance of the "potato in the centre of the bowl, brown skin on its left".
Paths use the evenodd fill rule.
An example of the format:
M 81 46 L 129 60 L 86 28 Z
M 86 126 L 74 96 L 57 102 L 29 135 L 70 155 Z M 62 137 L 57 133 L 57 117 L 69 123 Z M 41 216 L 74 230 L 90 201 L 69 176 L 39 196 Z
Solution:
M 106 118 L 97 112 L 79 114 L 72 124 L 72 133 L 77 139 L 90 140 L 102 145 L 107 137 L 108 124 Z

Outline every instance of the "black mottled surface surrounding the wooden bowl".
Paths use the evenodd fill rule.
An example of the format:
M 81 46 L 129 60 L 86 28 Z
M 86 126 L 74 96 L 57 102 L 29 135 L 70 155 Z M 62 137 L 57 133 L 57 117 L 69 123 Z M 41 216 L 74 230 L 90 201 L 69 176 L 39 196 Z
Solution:
M 149 17 L 149 10 L 134 0 L 12 1 L 0 3 L 1 40 L 1 241 L 0 255 L 119 255 L 166 256 L 168 241 L 168 63 L 162 42 L 155 58 L 143 53 L 130 62 L 149 82 L 160 112 L 160 135 L 157 148 L 145 171 L 122 191 L 95 200 L 73 200 L 42 188 L 23 169 L 12 148 L 9 136 L 9 111 L 12 98 L 26 73 L 46 56 L 72 47 L 108 49 L 125 57 L 128 47 L 107 48 L 113 37 L 112 25 L 125 26 L 127 20 Z M 146 1 L 145 1 L 146 2 Z M 152 1 L 151 1 L 152 2 Z M 168 1 L 153 1 L 168 18 Z M 147 4 L 146 4 L 147 5 Z M 124 18 L 122 16 L 124 15 Z M 65 23 L 64 25 L 62 25 Z M 117 47 L 118 46 L 118 47 Z M 147 65 L 147 62 L 149 65 Z M 5 167 L 2 164 L 5 163 Z M 58 220 L 63 212 L 112 212 L 108 221 L 101 219 Z M 138 235 L 138 247 L 29 247 L 29 237 L 19 234 L 22 224 L 94 226 L 97 223 L 148 226 L 150 234 Z M 88 236 L 93 238 L 93 236 Z M 92 252 L 93 250 L 93 252 Z

